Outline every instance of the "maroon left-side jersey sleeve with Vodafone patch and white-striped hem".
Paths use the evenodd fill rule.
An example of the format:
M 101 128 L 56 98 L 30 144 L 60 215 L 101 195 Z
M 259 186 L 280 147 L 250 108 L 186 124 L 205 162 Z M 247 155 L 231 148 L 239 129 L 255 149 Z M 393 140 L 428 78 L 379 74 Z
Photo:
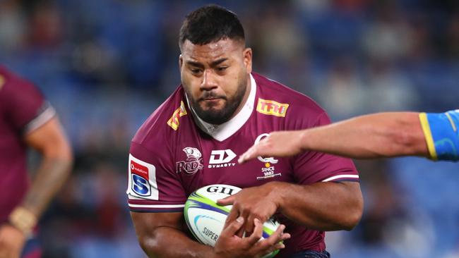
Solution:
M 131 142 L 126 190 L 131 211 L 183 211 L 185 190 L 165 149 L 161 147 L 152 151 L 137 142 Z

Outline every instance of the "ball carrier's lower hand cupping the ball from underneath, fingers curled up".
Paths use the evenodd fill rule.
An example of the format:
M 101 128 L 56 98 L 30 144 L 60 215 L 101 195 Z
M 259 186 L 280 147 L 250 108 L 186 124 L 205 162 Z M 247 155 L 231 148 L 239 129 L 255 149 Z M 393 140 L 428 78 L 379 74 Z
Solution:
M 253 223 L 255 224 L 254 233 L 246 238 L 235 235 L 242 228 L 244 218 L 239 217 L 225 225 L 215 243 L 215 257 L 258 258 L 285 247 L 280 241 L 289 239 L 290 234 L 284 233 L 284 225 L 280 225 L 269 238 L 260 240 L 263 233 L 263 223 L 258 219 L 255 219 Z

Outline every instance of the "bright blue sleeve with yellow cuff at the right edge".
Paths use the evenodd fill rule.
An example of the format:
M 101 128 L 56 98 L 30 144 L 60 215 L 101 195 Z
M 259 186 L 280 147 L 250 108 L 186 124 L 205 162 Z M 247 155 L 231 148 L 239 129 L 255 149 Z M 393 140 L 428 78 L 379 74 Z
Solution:
M 446 113 L 419 113 L 433 160 L 459 161 L 459 109 Z

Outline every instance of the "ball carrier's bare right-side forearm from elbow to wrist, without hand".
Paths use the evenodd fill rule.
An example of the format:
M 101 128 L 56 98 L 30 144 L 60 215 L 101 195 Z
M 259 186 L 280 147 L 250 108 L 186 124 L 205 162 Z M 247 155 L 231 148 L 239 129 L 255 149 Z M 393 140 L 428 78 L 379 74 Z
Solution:
M 350 230 L 359 222 L 363 199 L 359 183 L 293 185 L 270 183 L 279 211 L 292 221 L 319 231 Z

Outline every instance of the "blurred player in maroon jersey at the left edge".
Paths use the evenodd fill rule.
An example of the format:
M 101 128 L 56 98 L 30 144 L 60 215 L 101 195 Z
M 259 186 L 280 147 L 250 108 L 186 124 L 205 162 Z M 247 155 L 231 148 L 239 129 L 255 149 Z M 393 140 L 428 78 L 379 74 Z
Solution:
M 28 147 L 41 154 L 30 180 Z M 0 257 L 40 257 L 35 227 L 71 170 L 56 112 L 27 80 L 0 66 Z

